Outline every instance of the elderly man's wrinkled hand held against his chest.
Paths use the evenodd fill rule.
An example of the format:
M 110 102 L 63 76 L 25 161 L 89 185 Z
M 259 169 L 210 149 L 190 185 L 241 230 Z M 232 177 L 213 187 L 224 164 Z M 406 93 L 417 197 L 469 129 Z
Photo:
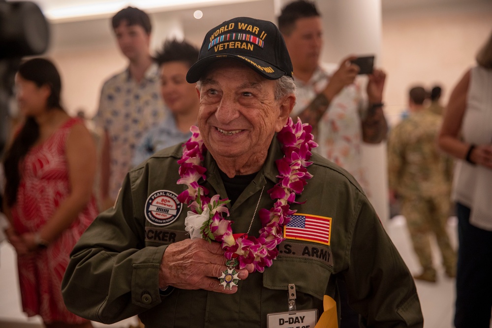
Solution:
M 203 239 L 186 239 L 169 245 L 162 256 L 159 270 L 159 287 L 174 286 L 180 289 L 205 289 L 233 294 L 238 288 L 224 289 L 218 277 L 227 266 L 224 251 L 218 242 Z M 240 269 L 238 277 L 246 279 L 254 266 Z

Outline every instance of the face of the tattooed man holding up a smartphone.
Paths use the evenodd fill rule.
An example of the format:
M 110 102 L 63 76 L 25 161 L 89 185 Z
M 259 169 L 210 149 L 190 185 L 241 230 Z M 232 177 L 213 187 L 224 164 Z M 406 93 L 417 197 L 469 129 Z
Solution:
M 320 17 L 298 19 L 290 35 L 284 35 L 284 39 L 294 70 L 316 68 L 323 46 Z

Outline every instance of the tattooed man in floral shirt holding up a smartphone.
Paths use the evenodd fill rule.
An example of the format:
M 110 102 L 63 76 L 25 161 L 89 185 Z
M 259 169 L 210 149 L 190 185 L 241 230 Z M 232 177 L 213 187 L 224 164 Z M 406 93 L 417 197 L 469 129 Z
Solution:
M 313 127 L 319 144 L 316 152 L 350 172 L 369 194 L 362 167 L 362 143 L 383 141 L 388 125 L 383 114 L 383 88 L 386 74 L 373 69 L 367 94 L 356 77 L 361 71 L 356 56 L 340 61 L 331 74 L 322 67 L 321 16 L 311 1 L 290 2 L 278 17 L 278 28 L 289 50 L 294 67 L 297 102 L 292 117 L 300 117 Z M 371 64 L 373 60 L 366 58 Z M 371 67 L 372 65 L 369 65 Z M 370 69 L 369 69 L 370 71 Z

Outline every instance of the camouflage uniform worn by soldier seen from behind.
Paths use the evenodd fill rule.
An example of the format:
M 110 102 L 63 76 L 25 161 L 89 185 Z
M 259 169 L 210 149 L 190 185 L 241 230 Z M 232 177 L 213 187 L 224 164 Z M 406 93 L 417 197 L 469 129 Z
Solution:
M 401 214 L 424 272 L 432 272 L 432 232 L 448 276 L 454 276 L 456 253 L 446 232 L 450 208 L 451 159 L 436 148 L 441 117 L 431 111 L 412 113 L 391 132 L 388 141 L 390 189 L 401 198 Z

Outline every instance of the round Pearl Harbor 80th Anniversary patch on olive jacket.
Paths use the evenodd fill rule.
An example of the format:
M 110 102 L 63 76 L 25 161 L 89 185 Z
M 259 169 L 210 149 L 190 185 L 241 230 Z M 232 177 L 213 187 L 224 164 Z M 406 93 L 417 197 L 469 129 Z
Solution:
M 167 226 L 178 218 L 183 204 L 178 200 L 178 195 L 169 190 L 154 191 L 145 204 L 145 217 L 147 221 L 158 225 Z

